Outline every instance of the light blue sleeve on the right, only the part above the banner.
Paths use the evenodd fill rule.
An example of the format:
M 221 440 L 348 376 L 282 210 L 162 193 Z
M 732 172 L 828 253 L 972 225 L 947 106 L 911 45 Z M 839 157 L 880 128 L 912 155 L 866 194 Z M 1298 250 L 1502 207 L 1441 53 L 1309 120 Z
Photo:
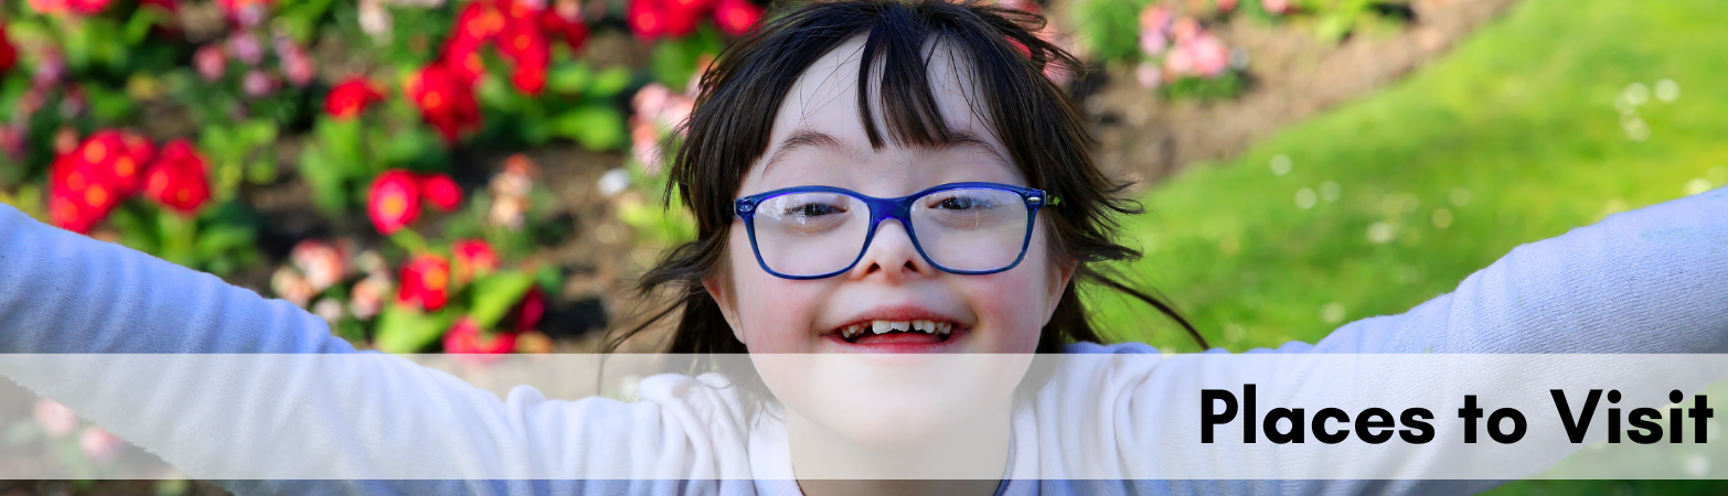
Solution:
M 1728 353 L 1728 188 L 1521 245 L 1452 294 L 1312 351 Z

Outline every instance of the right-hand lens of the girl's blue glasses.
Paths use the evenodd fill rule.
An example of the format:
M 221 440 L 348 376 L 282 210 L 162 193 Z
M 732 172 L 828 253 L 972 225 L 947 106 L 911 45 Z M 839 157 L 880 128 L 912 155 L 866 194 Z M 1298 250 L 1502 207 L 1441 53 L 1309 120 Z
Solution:
M 1006 268 L 1025 247 L 1030 219 L 1020 194 L 992 188 L 942 190 L 912 204 L 912 230 L 930 261 L 950 270 Z

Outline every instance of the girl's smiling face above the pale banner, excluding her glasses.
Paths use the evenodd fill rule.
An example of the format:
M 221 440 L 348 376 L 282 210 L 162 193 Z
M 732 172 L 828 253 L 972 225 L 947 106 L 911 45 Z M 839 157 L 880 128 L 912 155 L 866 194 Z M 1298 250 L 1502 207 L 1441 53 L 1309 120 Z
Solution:
M 743 176 L 738 197 L 805 185 L 871 197 L 904 197 L 956 181 L 1026 187 L 985 118 L 968 104 L 971 78 L 947 50 L 930 57 L 931 88 L 942 116 L 961 138 L 937 147 L 888 140 L 886 147 L 873 150 L 857 111 L 862 40 L 840 45 L 800 76 L 774 119 L 767 152 Z M 876 100 L 880 92 L 871 95 L 880 123 L 885 116 Z M 878 130 L 892 137 L 885 124 Z M 757 264 L 745 225 L 734 218 L 727 273 L 708 280 L 707 289 L 752 354 L 1030 354 L 1073 271 L 1071 263 L 1051 261 L 1045 235 L 1044 221 L 1035 221 L 1026 254 L 1013 270 L 954 275 L 924 261 L 904 225 L 885 219 L 852 270 L 819 280 L 788 280 Z M 876 321 L 914 328 L 874 334 Z M 918 332 L 918 321 L 952 330 L 947 335 Z M 861 337 L 845 337 L 843 330 L 852 325 L 864 328 Z

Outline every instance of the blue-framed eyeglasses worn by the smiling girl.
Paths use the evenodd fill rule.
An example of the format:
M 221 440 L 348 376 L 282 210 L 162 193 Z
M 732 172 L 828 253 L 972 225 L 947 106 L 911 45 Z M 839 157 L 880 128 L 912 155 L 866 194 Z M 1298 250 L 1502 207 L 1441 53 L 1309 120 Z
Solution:
M 852 270 L 876 226 L 897 219 L 931 266 L 959 275 L 999 273 L 1020 264 L 1042 190 L 999 183 L 947 183 L 899 199 L 835 187 L 797 187 L 734 200 L 757 263 L 774 277 L 810 280 Z

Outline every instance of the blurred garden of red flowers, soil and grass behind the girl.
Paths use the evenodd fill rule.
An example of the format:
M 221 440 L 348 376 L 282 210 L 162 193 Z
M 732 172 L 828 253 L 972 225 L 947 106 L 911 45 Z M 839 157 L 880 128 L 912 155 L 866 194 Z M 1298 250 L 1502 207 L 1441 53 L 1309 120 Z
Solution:
M 1313 342 L 1445 294 L 1519 244 L 1728 185 L 1728 2 L 1013 5 L 1049 16 L 1044 36 L 1092 66 L 1051 76 L 1149 211 L 1125 221 L 1146 258 L 1120 270 L 1218 347 Z M 593 351 L 645 308 L 634 277 L 691 237 L 676 204 L 660 207 L 658 147 L 695 78 L 766 7 L 5 2 L 0 202 L 292 301 L 361 347 Z M 1149 309 L 1089 297 L 1111 339 L 1199 349 Z M 52 401 L 0 411 L 0 442 L 48 444 L 62 456 L 45 463 L 92 479 L 137 449 Z M 1728 470 L 1699 461 L 1673 460 Z M 1496 489 L 1579 491 L 1728 486 Z

